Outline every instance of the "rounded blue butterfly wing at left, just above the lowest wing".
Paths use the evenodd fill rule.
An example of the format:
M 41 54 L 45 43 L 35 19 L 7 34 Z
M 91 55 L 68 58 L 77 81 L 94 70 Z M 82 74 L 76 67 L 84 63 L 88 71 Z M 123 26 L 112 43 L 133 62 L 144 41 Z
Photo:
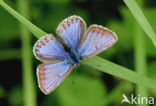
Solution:
M 67 58 L 64 50 L 53 35 L 46 35 L 39 39 L 34 48 L 34 55 L 42 62 L 54 63 Z

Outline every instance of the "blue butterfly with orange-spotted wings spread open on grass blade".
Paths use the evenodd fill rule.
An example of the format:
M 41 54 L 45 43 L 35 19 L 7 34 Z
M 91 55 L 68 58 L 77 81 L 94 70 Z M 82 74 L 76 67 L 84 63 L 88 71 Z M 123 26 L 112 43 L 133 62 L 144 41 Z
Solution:
M 114 32 L 101 25 L 87 29 L 85 21 L 75 15 L 64 19 L 56 33 L 56 38 L 43 36 L 33 48 L 35 57 L 43 62 L 37 67 L 37 78 L 45 94 L 54 91 L 80 60 L 99 54 L 118 40 Z

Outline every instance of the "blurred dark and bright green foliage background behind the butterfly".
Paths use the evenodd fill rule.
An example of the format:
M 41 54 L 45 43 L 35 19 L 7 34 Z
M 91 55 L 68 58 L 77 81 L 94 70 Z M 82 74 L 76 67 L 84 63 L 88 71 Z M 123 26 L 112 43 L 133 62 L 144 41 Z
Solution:
M 143 48 L 140 49 L 143 49 L 145 60 L 142 67 L 146 70 L 146 76 L 156 80 L 156 48 L 122 0 L 25 0 L 21 2 L 28 5 L 23 6 L 20 0 L 6 2 L 21 14 L 26 14 L 26 17 L 39 28 L 54 35 L 57 25 L 71 15 L 81 16 L 87 26 L 100 24 L 108 27 L 117 34 L 119 40 L 99 56 L 132 70 L 136 69 L 138 43 L 135 39 L 137 31 L 140 30 L 139 34 L 144 39 Z M 156 1 L 142 0 L 141 8 L 156 32 Z M 22 10 L 27 12 L 24 14 Z M 44 95 L 37 86 L 36 78 L 36 67 L 41 62 L 34 58 L 30 49 L 37 38 L 21 37 L 22 29 L 22 25 L 0 7 L 0 106 L 29 106 L 24 102 L 27 98 L 24 89 L 27 86 L 23 83 L 29 83 L 27 78 L 32 83 L 30 86 L 34 88 L 31 106 L 120 106 L 123 93 L 129 96 L 132 93 L 137 95 L 136 85 L 83 64 L 76 72 L 74 86 L 72 72 L 53 93 Z M 23 42 L 31 43 L 24 47 Z M 29 57 L 23 55 L 23 48 L 30 51 Z M 26 69 L 31 71 L 27 74 L 32 76 L 31 80 L 23 74 L 23 70 L 26 71 L 22 68 L 24 58 L 30 58 L 25 64 L 28 65 Z M 147 89 L 146 95 L 156 98 L 156 90 Z

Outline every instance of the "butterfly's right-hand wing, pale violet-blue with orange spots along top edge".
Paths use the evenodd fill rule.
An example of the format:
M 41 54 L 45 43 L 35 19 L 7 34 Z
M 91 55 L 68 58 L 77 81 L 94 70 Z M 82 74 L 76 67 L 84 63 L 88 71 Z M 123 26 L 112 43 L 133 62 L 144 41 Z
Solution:
M 111 47 L 118 40 L 114 32 L 100 25 L 91 25 L 85 37 L 79 49 L 80 59 L 94 56 Z

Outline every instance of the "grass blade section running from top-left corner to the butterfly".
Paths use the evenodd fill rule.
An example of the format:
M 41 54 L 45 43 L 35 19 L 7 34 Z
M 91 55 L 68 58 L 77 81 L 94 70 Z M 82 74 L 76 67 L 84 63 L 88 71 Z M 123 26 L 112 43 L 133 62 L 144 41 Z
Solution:
M 26 18 L 21 16 L 19 13 L 17 13 L 14 9 L 12 9 L 10 6 L 8 6 L 3 0 L 0 0 L 0 5 L 7 10 L 11 15 L 13 15 L 18 21 L 25 24 L 27 28 L 37 37 L 40 38 L 43 35 L 46 35 L 44 31 L 36 27 L 34 24 L 29 22 Z

